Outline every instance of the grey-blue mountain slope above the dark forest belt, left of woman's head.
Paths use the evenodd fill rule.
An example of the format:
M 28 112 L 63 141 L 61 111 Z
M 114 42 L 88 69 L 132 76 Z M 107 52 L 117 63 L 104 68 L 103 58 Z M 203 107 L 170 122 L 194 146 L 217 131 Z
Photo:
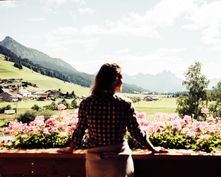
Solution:
M 23 59 L 26 58 L 34 64 L 40 65 L 39 67 L 44 67 L 53 71 L 59 71 L 60 73 L 62 73 L 62 75 L 68 78 L 70 82 L 73 82 L 75 84 L 89 87 L 94 78 L 93 75 L 78 72 L 70 64 L 64 62 L 59 58 L 52 58 L 38 50 L 25 47 L 24 45 L 18 43 L 9 36 L 5 37 L 5 39 L 0 42 L 0 45 L 9 49 L 18 57 L 21 57 Z

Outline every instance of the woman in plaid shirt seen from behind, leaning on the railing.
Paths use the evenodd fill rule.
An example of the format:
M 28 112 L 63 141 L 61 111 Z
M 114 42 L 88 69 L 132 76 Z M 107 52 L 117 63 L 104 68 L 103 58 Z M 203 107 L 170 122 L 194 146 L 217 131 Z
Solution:
M 72 153 L 82 143 L 85 130 L 87 177 L 132 177 L 131 150 L 125 140 L 128 131 L 142 146 L 154 152 L 166 152 L 154 147 L 139 127 L 132 102 L 118 96 L 122 88 L 121 68 L 104 64 L 94 81 L 91 96 L 79 107 L 79 122 L 72 134 L 70 147 L 59 152 Z

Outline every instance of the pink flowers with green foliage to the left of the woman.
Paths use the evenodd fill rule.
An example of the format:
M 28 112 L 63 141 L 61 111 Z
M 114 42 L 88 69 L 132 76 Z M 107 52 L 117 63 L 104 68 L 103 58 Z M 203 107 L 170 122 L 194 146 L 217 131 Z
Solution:
M 77 110 L 73 115 L 62 112 L 45 120 L 37 116 L 29 124 L 10 122 L 7 133 L 13 137 L 10 146 L 14 148 L 55 148 L 67 145 L 78 121 Z

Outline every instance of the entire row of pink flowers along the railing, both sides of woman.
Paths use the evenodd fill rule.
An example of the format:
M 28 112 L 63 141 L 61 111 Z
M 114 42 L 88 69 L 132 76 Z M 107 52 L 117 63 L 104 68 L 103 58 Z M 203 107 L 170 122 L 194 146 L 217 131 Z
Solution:
M 198 121 L 190 116 L 180 118 L 177 114 L 155 114 L 146 116 L 137 113 L 141 129 L 149 134 L 153 145 L 170 149 L 193 149 L 211 152 L 221 149 L 221 120 L 207 117 Z M 78 122 L 77 110 L 73 115 L 62 111 L 60 116 L 45 120 L 37 116 L 29 124 L 10 122 L 7 132 L 13 137 L 8 147 L 13 148 L 54 148 L 67 145 Z M 132 149 L 142 148 L 127 134 Z

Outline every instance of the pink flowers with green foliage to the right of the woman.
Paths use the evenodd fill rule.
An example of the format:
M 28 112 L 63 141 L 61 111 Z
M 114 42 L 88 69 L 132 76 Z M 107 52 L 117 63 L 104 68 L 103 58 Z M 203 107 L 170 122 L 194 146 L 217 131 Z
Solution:
M 156 114 L 155 121 L 147 121 L 143 117 L 138 114 L 138 121 L 155 146 L 206 152 L 221 149 L 221 120 L 218 118 L 197 121 L 190 116 Z

